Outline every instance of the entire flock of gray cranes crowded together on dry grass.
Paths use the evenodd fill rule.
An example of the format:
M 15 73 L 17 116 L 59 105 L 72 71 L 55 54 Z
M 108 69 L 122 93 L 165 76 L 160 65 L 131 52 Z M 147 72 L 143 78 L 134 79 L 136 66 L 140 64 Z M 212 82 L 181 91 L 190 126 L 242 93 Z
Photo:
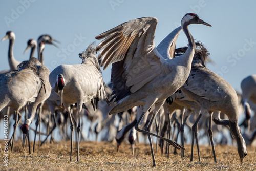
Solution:
M 256 104 L 254 93 L 256 75 L 251 75 L 242 81 L 243 98 L 240 97 L 241 95 L 238 95 L 227 81 L 206 68 L 209 52 L 201 42 L 195 42 L 188 30 L 190 24 L 211 26 L 210 24 L 194 13 L 188 13 L 182 18 L 181 26 L 155 47 L 157 23 L 158 20 L 154 17 L 138 18 L 122 23 L 96 36 L 96 39 L 103 40 L 97 47 L 91 44 L 86 51 L 79 54 L 82 59 L 81 64 L 60 65 L 52 72 L 44 66 L 43 51 L 45 44 L 57 47 L 54 44 L 54 41 L 58 42 L 57 40 L 49 35 L 42 35 L 37 41 L 30 39 L 24 51 L 26 53 L 31 48 L 30 59 L 18 62 L 13 56 L 15 34 L 11 31 L 7 32 L 2 41 L 5 39 L 10 41 L 8 51 L 10 71 L 3 71 L 0 75 L 0 112 L 1 117 L 3 115 L 10 117 L 12 113 L 14 114 L 14 131 L 8 143 L 11 149 L 14 146 L 16 128 L 22 120 L 23 111 L 26 114 L 21 127 L 23 145 L 26 139 L 28 143 L 30 142 L 30 125 L 37 117 L 33 152 L 38 125 L 40 146 L 52 135 L 57 123 L 65 124 L 64 120 L 66 119 L 67 122 L 69 118 L 70 160 L 72 161 L 73 132 L 76 127 L 77 161 L 79 161 L 80 133 L 83 124 L 81 116 L 86 115 L 92 123 L 101 116 L 94 131 L 98 134 L 103 127 L 109 127 L 109 139 L 113 140 L 114 138 L 110 137 L 115 137 L 117 150 L 128 132 L 130 132 L 128 140 L 132 144 L 133 154 L 135 142 L 138 140 L 137 131 L 147 135 L 153 166 L 156 166 L 156 162 L 151 136 L 157 137 L 162 154 L 166 141 L 167 144 L 174 146 L 175 150 L 181 149 L 183 158 L 184 127 L 188 125 L 192 133 L 190 161 L 193 161 L 195 140 L 200 160 L 198 124 L 205 125 L 208 122 L 209 141 L 214 161 L 217 162 L 212 131 L 212 120 L 214 120 L 216 124 L 224 125 L 230 130 L 231 137 L 237 142 L 240 161 L 243 162 L 247 155 L 246 144 L 251 144 L 256 137 L 250 109 L 250 106 Z M 176 41 L 181 30 L 188 39 L 188 46 L 176 49 Z M 38 59 L 33 57 L 36 48 Z M 98 58 L 96 58 L 97 51 L 100 51 Z M 106 86 L 100 66 L 105 69 L 110 65 L 112 65 L 112 84 Z M 240 106 L 245 109 L 246 116 L 241 125 L 248 128 L 243 136 L 241 125 L 238 124 Z M 15 111 L 12 111 L 13 109 Z M 40 122 L 43 117 L 47 120 L 46 113 L 49 116 L 48 133 L 45 140 L 40 143 Z M 64 117 L 64 113 L 68 115 Z M 56 114 L 58 114 L 57 119 Z M 120 116 L 118 132 L 113 135 L 110 129 L 114 125 L 115 115 L 111 114 Z M 207 116 L 209 116 L 208 120 Z M 51 120 L 53 123 L 50 126 Z M 156 134 L 151 131 L 152 125 L 156 127 Z M 177 143 L 177 139 L 174 140 L 174 136 L 170 137 L 171 129 L 175 125 L 179 125 L 181 145 Z M 62 130 L 65 132 L 64 129 Z M 93 130 L 92 124 L 90 130 Z

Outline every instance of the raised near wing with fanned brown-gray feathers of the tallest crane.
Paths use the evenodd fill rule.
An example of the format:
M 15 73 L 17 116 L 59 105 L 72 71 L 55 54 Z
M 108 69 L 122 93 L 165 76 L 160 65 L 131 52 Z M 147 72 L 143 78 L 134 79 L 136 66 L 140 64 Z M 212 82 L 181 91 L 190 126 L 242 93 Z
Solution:
M 134 93 L 156 78 L 164 58 L 155 48 L 157 18 L 144 17 L 125 22 L 96 37 L 104 69 L 112 65 L 111 82 L 116 101 Z

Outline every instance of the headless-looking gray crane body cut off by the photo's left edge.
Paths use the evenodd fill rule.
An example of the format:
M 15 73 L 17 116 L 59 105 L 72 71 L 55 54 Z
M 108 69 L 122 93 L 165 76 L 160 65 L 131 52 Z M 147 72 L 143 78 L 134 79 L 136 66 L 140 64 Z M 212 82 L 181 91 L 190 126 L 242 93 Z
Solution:
M 6 106 L 16 111 L 11 149 L 13 149 L 16 127 L 21 119 L 20 109 L 28 102 L 34 102 L 39 91 L 44 87 L 44 82 L 39 75 L 38 66 L 40 65 L 38 59 L 31 58 L 20 63 L 18 70 L 0 76 L 0 111 Z

